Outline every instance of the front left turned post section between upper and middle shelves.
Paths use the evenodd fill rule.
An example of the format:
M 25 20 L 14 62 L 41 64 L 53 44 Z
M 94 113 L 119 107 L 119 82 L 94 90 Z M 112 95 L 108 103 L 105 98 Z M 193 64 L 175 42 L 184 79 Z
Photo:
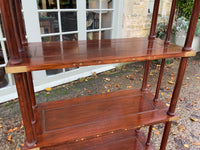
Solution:
M 14 74 L 14 77 L 19 96 L 19 104 L 24 122 L 24 128 L 26 131 L 26 145 L 30 147 L 36 144 L 36 133 L 32 125 L 34 118 L 29 92 L 27 90 L 28 85 L 26 73 Z

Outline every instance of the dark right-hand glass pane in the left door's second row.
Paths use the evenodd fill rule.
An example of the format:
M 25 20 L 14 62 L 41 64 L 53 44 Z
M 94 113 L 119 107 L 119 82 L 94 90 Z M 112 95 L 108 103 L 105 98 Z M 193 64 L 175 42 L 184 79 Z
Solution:
M 77 31 L 77 13 L 61 12 L 62 32 Z

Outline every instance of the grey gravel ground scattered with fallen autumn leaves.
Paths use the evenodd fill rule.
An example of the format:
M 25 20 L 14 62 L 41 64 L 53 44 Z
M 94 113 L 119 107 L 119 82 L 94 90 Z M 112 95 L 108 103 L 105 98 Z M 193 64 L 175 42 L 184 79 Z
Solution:
M 180 59 L 165 67 L 164 79 L 160 91 L 160 99 L 169 104 L 176 79 Z M 199 150 L 200 149 L 200 55 L 189 60 L 183 87 L 179 97 L 176 113 L 180 117 L 174 121 L 167 150 Z M 159 74 L 159 65 L 151 65 L 148 87 L 155 91 Z M 48 102 L 98 93 L 106 93 L 123 89 L 140 88 L 143 77 L 143 63 L 131 63 L 114 70 L 93 75 L 51 91 L 36 93 L 37 102 Z M 158 149 L 162 137 L 163 124 L 153 128 L 152 142 Z M 147 133 L 148 128 L 142 130 Z M 24 126 L 21 120 L 18 100 L 0 105 L 0 149 L 23 149 Z

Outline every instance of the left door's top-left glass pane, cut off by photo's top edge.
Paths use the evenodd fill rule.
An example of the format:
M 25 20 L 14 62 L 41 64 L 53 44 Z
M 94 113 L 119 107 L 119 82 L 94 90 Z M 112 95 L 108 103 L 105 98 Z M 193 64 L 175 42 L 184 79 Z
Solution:
M 38 9 L 57 9 L 56 0 L 37 0 Z

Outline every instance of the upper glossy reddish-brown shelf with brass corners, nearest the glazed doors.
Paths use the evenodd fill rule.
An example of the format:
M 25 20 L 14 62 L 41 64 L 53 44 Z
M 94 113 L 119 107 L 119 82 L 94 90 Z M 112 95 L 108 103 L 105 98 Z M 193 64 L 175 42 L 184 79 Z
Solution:
M 195 56 L 175 44 L 148 38 L 29 43 L 28 57 L 19 65 L 8 62 L 7 73 Z

